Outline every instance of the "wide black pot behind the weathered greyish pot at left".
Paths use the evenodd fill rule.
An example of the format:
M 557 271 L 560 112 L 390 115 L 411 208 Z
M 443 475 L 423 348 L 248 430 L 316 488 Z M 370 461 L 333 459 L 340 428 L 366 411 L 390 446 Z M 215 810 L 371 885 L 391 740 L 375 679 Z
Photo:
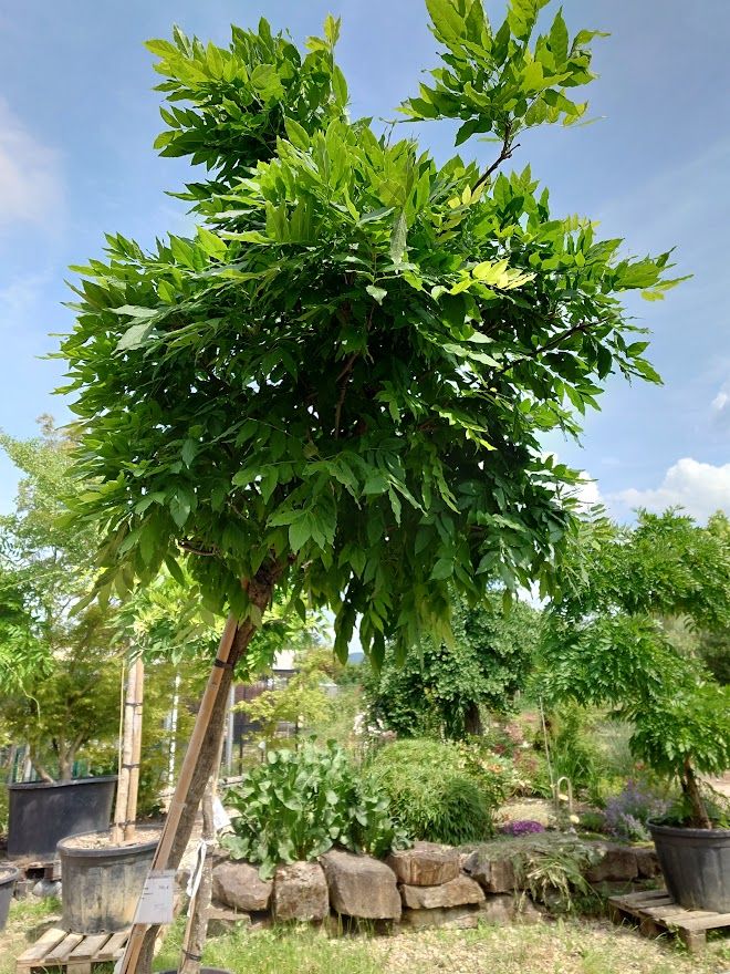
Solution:
M 61 839 L 105 829 L 115 784 L 116 775 L 8 785 L 8 856 L 54 859 Z

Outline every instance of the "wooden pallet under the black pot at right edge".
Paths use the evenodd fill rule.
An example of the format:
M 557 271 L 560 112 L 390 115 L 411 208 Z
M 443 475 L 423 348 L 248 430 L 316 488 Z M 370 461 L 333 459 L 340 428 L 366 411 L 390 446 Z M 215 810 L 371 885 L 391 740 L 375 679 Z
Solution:
M 615 923 L 623 923 L 627 918 L 637 921 L 645 936 L 658 936 L 667 931 L 676 933 L 692 954 L 705 950 L 708 930 L 730 926 L 730 913 L 686 910 L 675 903 L 666 890 L 609 897 L 608 908 Z

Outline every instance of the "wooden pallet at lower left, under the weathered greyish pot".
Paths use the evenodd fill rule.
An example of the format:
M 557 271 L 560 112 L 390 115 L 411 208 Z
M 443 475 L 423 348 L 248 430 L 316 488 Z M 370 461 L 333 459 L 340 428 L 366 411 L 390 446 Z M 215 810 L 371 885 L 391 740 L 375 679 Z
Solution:
M 91 974 L 94 964 L 117 961 L 128 936 L 128 930 L 83 934 L 52 926 L 18 957 L 15 972 L 30 974 L 36 967 L 65 967 L 67 974 Z

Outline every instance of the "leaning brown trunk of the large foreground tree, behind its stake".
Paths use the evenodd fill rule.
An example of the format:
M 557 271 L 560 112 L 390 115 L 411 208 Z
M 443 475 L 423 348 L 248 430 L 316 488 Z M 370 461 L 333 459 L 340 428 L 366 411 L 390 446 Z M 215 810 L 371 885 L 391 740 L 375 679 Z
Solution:
M 251 602 L 257 605 L 263 613 L 269 607 L 274 586 L 281 573 L 282 566 L 262 567 L 254 580 L 248 584 L 248 593 Z M 216 761 L 219 760 L 220 748 L 222 744 L 223 731 L 226 727 L 226 712 L 228 709 L 228 695 L 233 682 L 233 669 L 238 661 L 246 654 L 249 643 L 255 635 L 257 628 L 247 620 L 238 625 L 233 636 L 233 643 L 228 654 L 228 662 L 222 670 L 220 683 L 216 694 L 216 701 L 210 712 L 208 725 L 205 728 L 202 744 L 195 764 L 190 785 L 187 795 L 184 798 L 184 808 L 180 814 L 178 826 L 175 830 L 173 845 L 169 854 L 164 862 L 157 864 L 157 869 L 177 869 L 180 859 L 185 852 L 186 846 L 190 841 L 195 816 L 202 799 L 202 794 L 208 783 L 208 778 L 216 770 Z M 195 733 L 195 731 L 194 731 Z M 159 925 L 149 926 L 144 934 L 144 940 L 139 949 L 136 963 L 133 957 L 125 960 L 121 970 L 127 974 L 152 974 L 152 963 L 154 957 L 155 940 L 159 932 Z M 135 934 L 133 928 L 132 934 Z M 133 951 L 133 936 L 129 937 L 127 944 L 127 953 Z

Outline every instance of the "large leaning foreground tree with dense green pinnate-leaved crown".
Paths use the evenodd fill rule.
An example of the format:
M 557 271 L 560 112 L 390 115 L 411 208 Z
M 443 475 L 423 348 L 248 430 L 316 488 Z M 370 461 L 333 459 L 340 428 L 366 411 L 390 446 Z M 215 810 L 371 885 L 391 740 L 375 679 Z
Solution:
M 588 220 L 553 217 L 529 167 L 499 172 L 521 132 L 584 113 L 569 93 L 593 77 L 595 32 L 571 39 L 559 11 L 536 35 L 543 6 L 512 0 L 493 30 L 480 0 L 429 0 L 442 66 L 403 111 L 494 135 L 486 169 L 351 121 L 332 17 L 306 55 L 263 20 L 228 46 L 177 29 L 148 44 L 157 146 L 208 175 L 182 193 L 194 236 L 147 253 L 112 235 L 79 269 L 62 354 L 102 591 L 181 558 L 239 622 L 229 661 L 281 589 L 334 610 L 343 659 L 359 621 L 377 664 L 386 640 L 450 641 L 451 588 L 550 589 L 576 475 L 540 437 L 575 433 L 612 371 L 657 381 L 620 300 L 672 281 L 667 253 L 622 258 Z

